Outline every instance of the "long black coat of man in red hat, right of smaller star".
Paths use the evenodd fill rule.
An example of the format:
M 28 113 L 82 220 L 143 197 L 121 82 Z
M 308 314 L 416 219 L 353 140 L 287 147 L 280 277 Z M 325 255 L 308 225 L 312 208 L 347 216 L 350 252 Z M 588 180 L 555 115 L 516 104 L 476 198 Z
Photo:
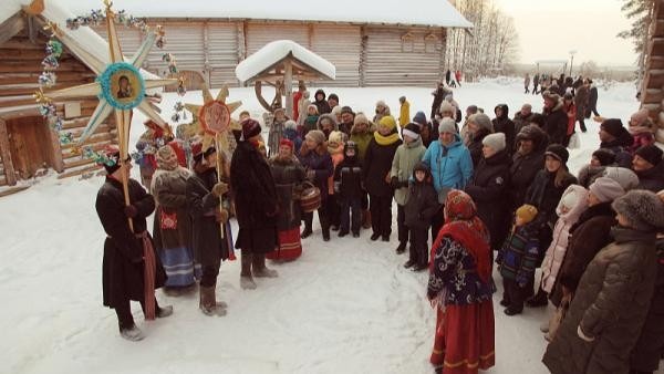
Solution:
M 230 163 L 238 219 L 236 248 L 267 253 L 277 247 L 277 189 L 270 166 L 249 142 L 240 142 Z

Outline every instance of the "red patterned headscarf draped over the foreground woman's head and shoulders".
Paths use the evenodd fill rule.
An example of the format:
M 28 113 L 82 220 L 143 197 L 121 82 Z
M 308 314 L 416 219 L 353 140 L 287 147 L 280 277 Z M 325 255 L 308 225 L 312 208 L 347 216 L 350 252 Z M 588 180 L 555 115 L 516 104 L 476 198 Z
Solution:
M 489 233 L 486 226 L 477 217 L 477 208 L 470 196 L 461 190 L 453 189 L 445 200 L 445 226 L 438 232 L 432 247 L 429 268 L 434 267 L 436 249 L 444 237 L 460 242 L 475 260 L 479 279 L 488 282 L 491 277 Z

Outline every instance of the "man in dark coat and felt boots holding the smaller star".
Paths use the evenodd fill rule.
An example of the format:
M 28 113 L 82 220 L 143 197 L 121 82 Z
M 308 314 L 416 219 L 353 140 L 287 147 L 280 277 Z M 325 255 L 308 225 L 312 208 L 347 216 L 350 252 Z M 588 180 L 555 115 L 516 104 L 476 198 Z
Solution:
M 226 183 L 217 181 L 217 152 L 214 147 L 203 149 L 197 143 L 191 147 L 194 175 L 187 179 L 187 205 L 193 220 L 191 243 L 195 258 L 201 266 L 198 307 L 206 315 L 225 315 L 226 303 L 217 302 L 217 276 L 221 260 L 230 256 L 232 243 L 228 225 L 228 193 Z M 226 207 L 224 207 L 226 205 Z M 221 208 L 220 208 L 221 206 Z M 225 237 L 221 238 L 221 225 Z

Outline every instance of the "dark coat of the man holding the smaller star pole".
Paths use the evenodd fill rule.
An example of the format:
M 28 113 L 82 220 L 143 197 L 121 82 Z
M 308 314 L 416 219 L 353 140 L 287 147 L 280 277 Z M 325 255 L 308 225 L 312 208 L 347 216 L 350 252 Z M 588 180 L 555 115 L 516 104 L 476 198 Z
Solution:
M 228 238 L 230 230 L 221 240 L 221 227 L 215 217 L 219 209 L 219 198 L 211 193 L 217 183 L 217 172 L 208 169 L 204 174 L 195 174 L 187 179 L 186 196 L 187 207 L 191 215 L 191 247 L 194 258 L 201 266 L 219 267 L 221 260 L 229 257 L 230 246 Z

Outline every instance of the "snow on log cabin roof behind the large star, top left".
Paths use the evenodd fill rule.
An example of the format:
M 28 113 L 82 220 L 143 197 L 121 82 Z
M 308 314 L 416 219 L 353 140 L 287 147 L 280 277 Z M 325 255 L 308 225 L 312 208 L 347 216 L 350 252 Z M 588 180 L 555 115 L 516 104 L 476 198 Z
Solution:
M 28 6 L 31 2 L 31 0 L 1 0 L 0 23 L 19 12 L 21 10 L 21 6 Z M 98 1 L 98 7 L 96 8 L 102 8 L 102 1 Z M 104 38 L 94 32 L 91 28 L 82 27 L 77 30 L 70 30 L 66 28 L 66 19 L 74 18 L 75 15 L 64 6 L 62 1 L 44 0 L 44 11 L 41 13 L 41 15 L 44 19 L 56 23 L 63 33 L 79 42 L 79 44 L 81 44 L 81 46 L 83 46 L 87 53 L 92 54 L 97 60 L 108 60 L 108 43 L 104 40 Z M 83 59 L 81 59 L 81 61 L 85 63 Z M 58 71 L 55 71 L 55 73 L 58 73 Z M 154 75 L 145 70 L 141 70 L 141 74 L 146 79 L 158 77 L 157 75 Z

